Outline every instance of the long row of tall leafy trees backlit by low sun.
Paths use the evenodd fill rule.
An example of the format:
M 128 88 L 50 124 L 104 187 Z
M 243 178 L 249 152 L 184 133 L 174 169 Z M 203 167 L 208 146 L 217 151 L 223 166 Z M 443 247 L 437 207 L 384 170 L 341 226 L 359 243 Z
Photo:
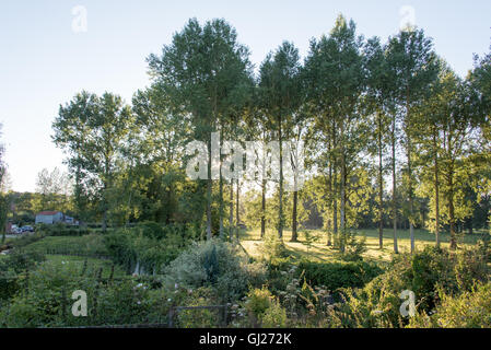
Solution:
M 352 21 L 339 16 L 329 35 L 312 40 L 304 61 L 285 42 L 256 74 L 230 24 L 190 20 L 148 62 L 152 84 L 133 95 L 131 106 L 110 93 L 82 92 L 60 107 L 54 122 L 82 221 L 98 218 L 104 228 L 109 220 L 184 221 L 202 224 L 207 237 L 232 235 L 241 188 L 248 183 L 259 188 L 261 234 L 270 201 L 278 235 L 288 225 L 296 241 L 299 211 L 305 209 L 300 198 L 308 198 L 324 218 L 327 244 L 343 250 L 360 215 L 376 212 L 381 247 L 389 215 L 397 253 L 402 218 L 414 249 L 424 199 L 436 244 L 448 224 L 455 248 L 456 223 L 490 196 L 491 59 L 476 58 L 461 79 L 422 30 L 407 28 L 383 44 L 364 39 Z M 278 141 L 279 180 L 268 180 L 264 172 L 225 179 L 226 155 L 212 154 L 211 132 L 220 135 L 220 147 L 224 139 Z M 194 140 L 208 145 L 206 182 L 191 182 L 185 173 L 186 145 Z M 300 160 L 284 151 L 290 140 L 305 143 L 308 175 L 304 189 L 291 195 L 283 163 L 289 159 L 297 166 Z M 232 151 L 237 150 L 229 156 Z

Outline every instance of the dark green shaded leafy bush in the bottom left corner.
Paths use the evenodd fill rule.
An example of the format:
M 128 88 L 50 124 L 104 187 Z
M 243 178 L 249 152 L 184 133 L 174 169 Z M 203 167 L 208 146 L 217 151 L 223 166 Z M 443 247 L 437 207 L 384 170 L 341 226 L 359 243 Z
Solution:
M 166 323 L 169 303 L 163 290 L 137 279 L 100 280 L 69 265 L 44 262 L 20 281 L 20 290 L 0 310 L 5 327 L 66 327 Z M 87 295 L 87 317 L 72 315 L 73 291 Z

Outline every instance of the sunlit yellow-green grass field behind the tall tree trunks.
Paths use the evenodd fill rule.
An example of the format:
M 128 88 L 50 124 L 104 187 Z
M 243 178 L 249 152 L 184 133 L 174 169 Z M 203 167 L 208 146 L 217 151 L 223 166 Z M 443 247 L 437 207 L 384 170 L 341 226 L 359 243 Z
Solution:
M 458 238 L 459 245 L 466 247 L 474 245 L 480 238 L 484 231 L 475 231 L 472 235 L 465 235 Z M 320 230 L 311 230 L 309 233 L 318 237 L 318 241 L 308 248 L 305 244 L 305 236 L 302 232 L 299 232 L 299 242 L 291 243 L 291 231 L 285 230 L 283 232 L 283 240 L 289 252 L 295 257 L 307 257 L 314 261 L 329 261 L 339 256 L 339 253 L 327 246 L 327 235 Z M 268 232 L 267 232 L 268 234 Z M 272 231 L 269 234 L 273 234 Z M 384 248 L 378 247 L 378 231 L 377 230 L 358 230 L 356 236 L 362 238 L 366 237 L 367 252 L 364 257 L 367 260 L 375 261 L 389 261 L 394 253 L 394 238 L 391 230 L 384 230 Z M 254 229 L 241 232 L 241 244 L 246 252 L 254 257 L 260 255 L 259 247 L 262 245 L 260 240 L 260 230 Z M 425 245 L 434 245 L 435 236 L 433 233 L 425 230 L 414 230 L 416 249 L 421 250 Z M 449 246 L 449 234 L 441 233 L 441 242 L 443 247 Z M 410 235 L 409 230 L 397 231 L 397 243 L 400 253 L 410 252 Z

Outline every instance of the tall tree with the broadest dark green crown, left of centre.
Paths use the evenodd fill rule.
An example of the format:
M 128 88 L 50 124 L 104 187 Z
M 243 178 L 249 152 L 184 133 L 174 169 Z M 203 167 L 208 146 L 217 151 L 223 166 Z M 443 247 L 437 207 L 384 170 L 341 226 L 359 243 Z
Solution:
M 192 19 L 174 35 L 171 45 L 163 47 L 161 56 L 148 59 L 154 82 L 192 116 L 195 138 L 208 144 L 208 238 L 212 236 L 213 178 L 221 177 L 221 171 L 218 176 L 212 174 L 211 132 L 233 104 L 234 90 L 249 75 L 248 56 L 248 49 L 237 42 L 235 30 L 224 20 L 201 26 Z

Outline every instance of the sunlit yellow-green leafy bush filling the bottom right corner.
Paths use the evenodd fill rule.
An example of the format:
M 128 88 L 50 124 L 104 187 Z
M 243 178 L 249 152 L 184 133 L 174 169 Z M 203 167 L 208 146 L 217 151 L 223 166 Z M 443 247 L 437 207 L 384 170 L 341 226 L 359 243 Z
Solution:
M 346 290 L 344 303 L 332 312 L 335 327 L 404 327 L 408 319 L 399 313 L 400 293 L 414 292 L 421 314 L 431 314 L 442 302 L 440 295 L 459 295 L 476 282 L 489 279 L 479 249 L 449 253 L 426 247 L 423 252 L 396 258 L 387 271 L 363 289 Z

